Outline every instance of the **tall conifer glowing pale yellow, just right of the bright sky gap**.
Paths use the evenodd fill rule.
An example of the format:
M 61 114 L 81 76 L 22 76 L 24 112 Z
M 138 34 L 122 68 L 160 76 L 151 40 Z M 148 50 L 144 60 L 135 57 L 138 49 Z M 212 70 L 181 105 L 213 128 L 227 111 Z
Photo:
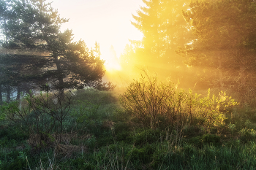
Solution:
M 121 56 L 127 66 L 134 63 L 132 69 L 141 72 L 147 69 L 157 72 L 159 77 L 172 77 L 173 80 L 186 77 L 189 72 L 184 58 L 175 50 L 192 39 L 191 31 L 182 16 L 187 9 L 188 0 L 143 0 L 144 6 L 132 15 L 132 25 L 143 33 L 141 41 L 130 41 L 130 47 Z M 129 53 L 127 53 L 129 51 Z M 128 59 L 130 58 L 130 59 Z M 124 62 L 123 62 L 124 63 Z M 140 69 L 138 69 L 140 68 Z M 184 74 L 186 73 L 186 74 Z

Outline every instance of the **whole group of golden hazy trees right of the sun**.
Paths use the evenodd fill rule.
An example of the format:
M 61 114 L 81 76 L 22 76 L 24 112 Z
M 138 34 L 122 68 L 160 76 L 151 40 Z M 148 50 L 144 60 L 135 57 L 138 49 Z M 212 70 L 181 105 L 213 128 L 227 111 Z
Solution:
M 254 0 L 143 0 L 132 25 L 143 33 L 121 56 L 186 87 L 219 88 L 255 98 Z

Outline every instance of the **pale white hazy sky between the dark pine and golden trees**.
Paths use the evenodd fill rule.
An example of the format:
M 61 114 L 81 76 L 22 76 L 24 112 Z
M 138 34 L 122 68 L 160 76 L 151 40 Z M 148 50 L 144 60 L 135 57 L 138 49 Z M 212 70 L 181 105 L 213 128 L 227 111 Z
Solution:
M 62 29 L 72 29 L 75 40 L 83 39 L 88 47 L 99 42 L 102 58 L 108 60 L 113 45 L 117 55 L 128 39 L 141 39 L 142 34 L 130 23 L 142 0 L 53 0 L 62 18 L 69 22 Z

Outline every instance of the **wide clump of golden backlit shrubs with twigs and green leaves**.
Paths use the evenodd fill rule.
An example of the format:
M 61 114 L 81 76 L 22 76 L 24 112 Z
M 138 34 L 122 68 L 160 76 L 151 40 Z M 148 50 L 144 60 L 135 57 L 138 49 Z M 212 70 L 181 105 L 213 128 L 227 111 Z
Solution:
M 157 77 L 141 77 L 134 80 L 120 96 L 121 105 L 144 126 L 157 128 L 159 125 L 185 125 L 200 123 L 211 129 L 225 122 L 225 109 L 237 103 L 220 92 L 219 96 L 200 98 L 192 90 L 186 92 L 168 82 L 159 82 Z

